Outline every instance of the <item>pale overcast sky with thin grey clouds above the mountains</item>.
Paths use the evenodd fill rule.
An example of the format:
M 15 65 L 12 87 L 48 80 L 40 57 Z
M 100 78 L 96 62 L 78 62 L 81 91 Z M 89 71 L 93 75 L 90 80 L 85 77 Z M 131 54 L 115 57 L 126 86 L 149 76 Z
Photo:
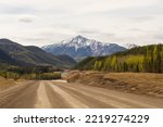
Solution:
M 163 0 L 0 0 L 0 38 L 41 47 L 77 35 L 163 43 Z

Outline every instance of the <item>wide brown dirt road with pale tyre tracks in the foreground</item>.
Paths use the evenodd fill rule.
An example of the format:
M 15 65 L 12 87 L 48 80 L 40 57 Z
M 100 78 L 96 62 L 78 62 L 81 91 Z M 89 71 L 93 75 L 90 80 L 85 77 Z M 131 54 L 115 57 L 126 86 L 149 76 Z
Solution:
M 76 84 L 27 81 L 0 90 L 0 107 L 143 109 L 163 107 L 163 100 Z

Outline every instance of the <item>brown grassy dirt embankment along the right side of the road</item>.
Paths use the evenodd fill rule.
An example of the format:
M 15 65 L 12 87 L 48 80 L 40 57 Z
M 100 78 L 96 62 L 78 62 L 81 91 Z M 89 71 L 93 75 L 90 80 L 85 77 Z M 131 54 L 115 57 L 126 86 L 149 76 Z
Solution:
M 163 74 L 72 72 L 67 81 L 163 98 Z

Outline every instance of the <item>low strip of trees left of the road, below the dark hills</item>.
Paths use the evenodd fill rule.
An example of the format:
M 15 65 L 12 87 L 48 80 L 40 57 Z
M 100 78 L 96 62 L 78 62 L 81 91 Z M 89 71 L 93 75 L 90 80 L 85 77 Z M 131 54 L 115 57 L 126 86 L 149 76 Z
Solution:
M 0 76 L 8 79 L 59 79 L 60 72 L 52 66 L 20 67 L 0 63 Z

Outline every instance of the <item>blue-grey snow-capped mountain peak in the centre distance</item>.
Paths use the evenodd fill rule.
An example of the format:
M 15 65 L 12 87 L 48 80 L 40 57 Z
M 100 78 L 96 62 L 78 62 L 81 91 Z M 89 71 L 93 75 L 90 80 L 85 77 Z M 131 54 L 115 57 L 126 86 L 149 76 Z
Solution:
M 87 39 L 83 36 L 76 36 L 74 38 L 63 40 L 60 43 L 45 46 L 42 49 L 54 55 L 67 54 L 74 59 L 109 55 L 126 50 L 124 47 L 116 43 L 102 43 L 93 39 Z

